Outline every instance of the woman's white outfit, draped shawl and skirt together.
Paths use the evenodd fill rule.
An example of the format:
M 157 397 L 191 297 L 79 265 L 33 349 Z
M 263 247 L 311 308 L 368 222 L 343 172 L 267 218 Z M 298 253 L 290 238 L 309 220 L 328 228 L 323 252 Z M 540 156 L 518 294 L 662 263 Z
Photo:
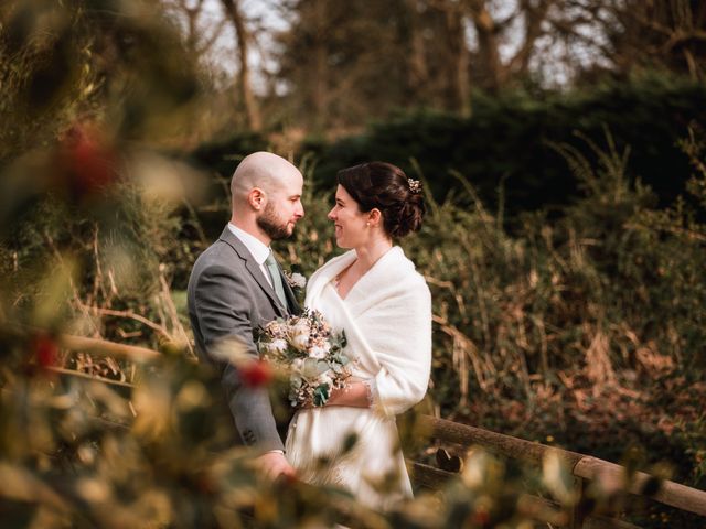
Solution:
M 385 510 L 411 496 L 395 415 L 427 391 L 431 298 L 414 263 L 393 247 L 341 299 L 334 279 L 355 259 L 351 250 L 320 268 L 309 280 L 304 304 L 345 332 L 353 377 L 370 384 L 372 406 L 298 411 L 286 453 L 303 481 L 340 486 L 367 507 Z

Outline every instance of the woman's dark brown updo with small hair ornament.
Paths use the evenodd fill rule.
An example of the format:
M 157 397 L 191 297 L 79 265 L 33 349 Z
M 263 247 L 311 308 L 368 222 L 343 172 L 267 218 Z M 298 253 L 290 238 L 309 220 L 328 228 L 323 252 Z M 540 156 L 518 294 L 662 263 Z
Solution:
M 421 183 L 407 179 L 402 169 L 385 162 L 363 163 L 342 169 L 336 180 L 361 212 L 381 210 L 388 236 L 404 237 L 421 227 L 426 212 Z

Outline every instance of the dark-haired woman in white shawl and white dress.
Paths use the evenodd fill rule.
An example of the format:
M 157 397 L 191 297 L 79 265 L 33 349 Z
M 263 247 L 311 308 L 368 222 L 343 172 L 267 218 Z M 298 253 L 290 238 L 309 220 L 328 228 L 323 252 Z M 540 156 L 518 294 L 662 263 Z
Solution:
M 304 303 L 345 332 L 353 376 L 325 407 L 297 412 L 287 458 L 303 481 L 385 510 L 411 496 L 395 415 L 424 398 L 431 364 L 429 289 L 393 239 L 418 230 L 425 207 L 419 182 L 388 163 L 336 177 L 328 218 L 351 250 L 314 272 Z

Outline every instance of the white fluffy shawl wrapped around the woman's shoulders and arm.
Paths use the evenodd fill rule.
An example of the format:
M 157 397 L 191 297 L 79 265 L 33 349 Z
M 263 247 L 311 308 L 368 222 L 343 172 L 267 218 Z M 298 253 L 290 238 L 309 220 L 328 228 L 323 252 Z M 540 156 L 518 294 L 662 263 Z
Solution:
M 324 289 L 355 259 L 351 250 L 320 268 L 309 281 L 306 305 L 323 309 Z M 345 300 L 338 294 L 325 298 L 324 316 L 340 322 L 347 353 L 359 359 L 354 375 L 375 379 L 379 410 L 389 417 L 419 402 L 431 367 L 431 295 L 402 248 L 395 246 L 381 257 Z

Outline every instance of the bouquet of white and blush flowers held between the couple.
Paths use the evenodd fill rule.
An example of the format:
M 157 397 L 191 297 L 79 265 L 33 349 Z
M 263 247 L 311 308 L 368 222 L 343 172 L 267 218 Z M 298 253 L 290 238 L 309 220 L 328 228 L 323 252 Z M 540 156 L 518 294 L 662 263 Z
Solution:
M 333 389 L 345 387 L 351 359 L 343 347 L 345 334 L 333 333 L 321 313 L 309 309 L 268 323 L 258 339 L 263 358 L 289 374 L 292 407 L 324 406 Z

